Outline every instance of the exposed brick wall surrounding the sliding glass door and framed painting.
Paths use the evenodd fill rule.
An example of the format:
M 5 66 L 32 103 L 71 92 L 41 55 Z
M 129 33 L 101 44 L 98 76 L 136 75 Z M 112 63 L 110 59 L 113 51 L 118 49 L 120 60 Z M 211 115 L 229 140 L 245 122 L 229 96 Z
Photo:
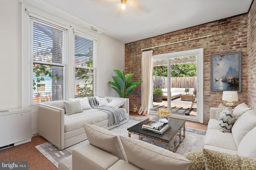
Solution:
M 255 2 L 254 2 L 255 4 Z M 255 15 L 254 15 L 255 16 Z M 254 20 L 255 21 L 255 20 Z M 248 92 L 248 15 L 236 16 L 223 20 L 206 23 L 148 39 L 125 44 L 125 72 L 133 73 L 132 80 L 141 80 L 141 49 L 164 45 L 189 38 L 205 35 L 212 37 L 187 41 L 158 47 L 153 49 L 153 55 L 185 51 L 190 49 L 204 48 L 204 122 L 208 122 L 210 107 L 217 107 L 223 103 L 222 92 L 211 92 L 210 77 L 211 63 L 210 56 L 220 53 L 242 51 L 242 92 L 238 93 L 239 103 L 247 103 Z M 255 41 L 254 41 L 255 46 Z M 255 62 L 255 61 L 254 61 Z M 254 69 L 255 70 L 255 69 Z M 255 77 L 255 73 L 254 73 Z M 255 94 L 255 93 L 254 93 Z M 134 111 L 141 106 L 141 85 L 129 96 L 130 110 Z

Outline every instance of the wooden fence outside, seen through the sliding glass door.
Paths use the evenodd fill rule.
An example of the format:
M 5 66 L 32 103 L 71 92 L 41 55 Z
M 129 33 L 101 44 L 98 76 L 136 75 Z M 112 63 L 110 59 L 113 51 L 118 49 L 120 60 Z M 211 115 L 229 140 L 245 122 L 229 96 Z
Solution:
M 153 89 L 167 88 L 167 77 L 153 76 L 152 79 Z M 171 88 L 195 88 L 196 77 L 172 77 Z

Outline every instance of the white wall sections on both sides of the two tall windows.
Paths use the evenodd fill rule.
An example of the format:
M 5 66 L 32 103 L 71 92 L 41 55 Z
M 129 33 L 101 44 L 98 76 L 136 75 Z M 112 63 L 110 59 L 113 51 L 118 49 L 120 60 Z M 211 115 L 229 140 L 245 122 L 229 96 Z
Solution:
M 0 0 L 0 110 L 22 107 L 21 10 L 16 0 Z M 96 94 L 116 96 L 107 83 L 113 69 L 124 70 L 124 44 L 106 35 L 98 43 Z M 26 88 L 26 87 L 24 87 Z M 32 134 L 38 133 L 38 109 L 32 108 Z

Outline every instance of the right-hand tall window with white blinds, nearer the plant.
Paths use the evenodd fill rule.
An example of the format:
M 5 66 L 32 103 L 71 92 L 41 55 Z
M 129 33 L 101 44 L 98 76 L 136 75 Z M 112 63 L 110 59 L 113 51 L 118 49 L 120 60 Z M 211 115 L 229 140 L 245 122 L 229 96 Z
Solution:
M 94 96 L 96 40 L 74 34 L 75 98 Z

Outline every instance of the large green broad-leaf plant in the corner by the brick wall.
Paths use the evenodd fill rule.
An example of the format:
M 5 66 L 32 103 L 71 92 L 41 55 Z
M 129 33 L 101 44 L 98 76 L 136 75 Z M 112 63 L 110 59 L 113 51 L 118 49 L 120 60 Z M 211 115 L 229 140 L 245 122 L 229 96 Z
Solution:
M 117 76 L 112 76 L 114 82 L 108 82 L 114 87 L 114 90 L 118 93 L 120 98 L 127 98 L 132 91 L 137 87 L 137 84 L 142 83 L 142 81 L 130 82 L 133 74 L 124 74 L 119 70 L 114 70 Z

